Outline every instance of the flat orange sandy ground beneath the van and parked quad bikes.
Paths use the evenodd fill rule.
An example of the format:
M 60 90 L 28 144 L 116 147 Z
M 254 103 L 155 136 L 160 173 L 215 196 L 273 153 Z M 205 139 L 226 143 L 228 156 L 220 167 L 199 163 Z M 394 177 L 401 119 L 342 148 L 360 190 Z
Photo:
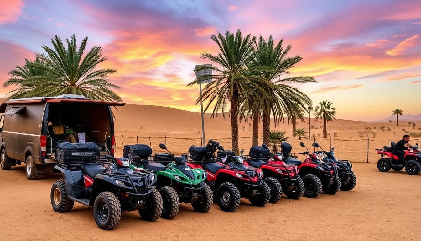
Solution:
M 100 230 L 93 209 L 75 204 L 68 213 L 51 208 L 50 189 L 60 175 L 29 181 L 23 166 L 0 170 L 0 240 L 420 240 L 421 174 L 380 173 L 355 163 L 357 186 L 316 199 L 251 206 L 242 200 L 234 213 L 213 204 L 206 214 L 182 204 L 173 220 L 143 221 L 125 212 L 112 231 Z

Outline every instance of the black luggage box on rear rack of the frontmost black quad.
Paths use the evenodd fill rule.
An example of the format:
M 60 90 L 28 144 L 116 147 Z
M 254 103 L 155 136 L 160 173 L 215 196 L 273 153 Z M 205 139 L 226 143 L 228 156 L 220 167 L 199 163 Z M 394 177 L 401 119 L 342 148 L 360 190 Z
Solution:
M 91 141 L 86 143 L 69 143 L 61 140 L 56 146 L 56 160 L 58 162 L 95 160 L 99 158 L 100 154 L 101 149 Z

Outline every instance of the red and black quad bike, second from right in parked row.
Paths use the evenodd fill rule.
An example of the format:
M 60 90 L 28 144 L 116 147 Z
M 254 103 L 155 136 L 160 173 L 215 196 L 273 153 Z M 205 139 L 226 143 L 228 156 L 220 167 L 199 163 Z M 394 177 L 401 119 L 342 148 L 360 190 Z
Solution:
M 302 142 L 300 146 L 307 149 Z M 286 144 L 284 144 L 285 147 Z M 333 162 L 323 162 L 319 159 L 317 153 L 310 153 L 309 149 L 298 154 L 308 155 L 309 157 L 304 162 L 297 160 L 295 156 L 285 158 L 283 161 L 298 166 L 299 173 L 302 176 L 301 179 L 304 182 L 304 197 L 317 198 L 321 191 L 326 194 L 335 194 L 339 191 L 341 179 L 339 179 L 338 169 L 333 165 Z

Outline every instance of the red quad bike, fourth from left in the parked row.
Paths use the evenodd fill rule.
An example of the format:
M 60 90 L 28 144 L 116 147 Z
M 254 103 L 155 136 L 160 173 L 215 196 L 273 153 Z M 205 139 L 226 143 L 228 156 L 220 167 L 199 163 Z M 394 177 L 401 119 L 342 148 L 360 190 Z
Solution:
M 283 162 L 281 154 L 273 154 L 266 144 L 250 147 L 249 156 L 252 158 L 244 158 L 244 163 L 247 166 L 259 166 L 263 171 L 264 181 L 271 189 L 271 199 L 269 199 L 269 202 L 272 199 L 278 198 L 272 191 L 275 190 L 275 194 L 279 193 L 279 191 L 276 191 L 277 186 L 275 181 L 281 184 L 279 198 L 282 195 L 282 190 L 285 190 L 285 195 L 288 198 L 298 199 L 303 196 L 304 183 L 300 176 L 298 176 L 297 165 Z

